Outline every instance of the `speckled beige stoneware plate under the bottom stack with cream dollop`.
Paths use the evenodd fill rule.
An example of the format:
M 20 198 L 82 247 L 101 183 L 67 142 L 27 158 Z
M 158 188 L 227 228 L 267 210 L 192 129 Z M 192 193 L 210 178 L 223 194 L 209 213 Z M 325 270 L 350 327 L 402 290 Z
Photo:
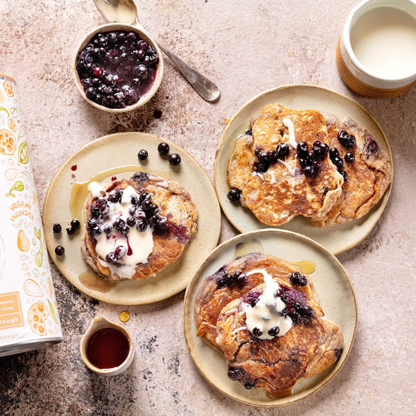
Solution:
M 238 381 L 229 379 L 227 362 L 222 352 L 210 347 L 196 336 L 193 303 L 202 281 L 223 264 L 248 252 L 264 252 L 286 260 L 315 263 L 315 272 L 310 273 L 309 276 L 320 297 L 320 305 L 325 316 L 339 325 L 344 336 L 343 352 L 335 364 L 311 379 L 300 379 L 293 387 L 293 394 L 280 399 L 270 399 L 263 390 L 254 388 L 246 390 Z M 315 241 L 281 229 L 261 229 L 240 234 L 218 245 L 189 283 L 184 299 L 185 340 L 196 367 L 202 376 L 220 392 L 253 406 L 286 406 L 322 388 L 345 363 L 354 340 L 356 322 L 357 304 L 354 288 L 338 259 Z

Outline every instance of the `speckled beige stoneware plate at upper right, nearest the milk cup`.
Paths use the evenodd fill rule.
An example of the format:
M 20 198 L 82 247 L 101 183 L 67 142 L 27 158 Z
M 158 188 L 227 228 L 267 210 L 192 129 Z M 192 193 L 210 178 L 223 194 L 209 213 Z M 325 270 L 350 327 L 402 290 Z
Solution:
M 260 114 L 263 107 L 276 102 L 296 110 L 311 109 L 331 112 L 341 120 L 346 116 L 352 117 L 359 125 L 371 132 L 379 146 L 389 155 L 390 162 L 393 162 L 390 146 L 379 123 L 364 107 L 351 98 L 314 85 L 284 85 L 263 92 L 243 105 L 228 123 L 216 152 L 214 180 L 218 199 L 224 214 L 240 232 L 248 232 L 259 228 L 277 228 L 261 223 L 249 209 L 243 208 L 227 198 L 229 191 L 227 166 L 237 137 L 249 128 L 250 119 Z M 349 223 L 331 225 L 330 227 L 315 227 L 306 218 L 297 216 L 278 228 L 308 236 L 324 245 L 333 254 L 339 254 L 353 248 L 370 233 L 383 212 L 390 196 L 390 189 L 391 184 L 380 202 L 367 215 Z

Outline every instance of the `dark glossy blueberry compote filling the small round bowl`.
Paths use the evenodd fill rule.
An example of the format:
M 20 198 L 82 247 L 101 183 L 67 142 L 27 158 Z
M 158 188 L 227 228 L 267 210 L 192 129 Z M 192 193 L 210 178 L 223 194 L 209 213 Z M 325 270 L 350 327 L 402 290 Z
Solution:
M 85 95 L 109 108 L 137 103 L 155 81 L 159 56 L 135 32 L 97 33 L 78 54 Z

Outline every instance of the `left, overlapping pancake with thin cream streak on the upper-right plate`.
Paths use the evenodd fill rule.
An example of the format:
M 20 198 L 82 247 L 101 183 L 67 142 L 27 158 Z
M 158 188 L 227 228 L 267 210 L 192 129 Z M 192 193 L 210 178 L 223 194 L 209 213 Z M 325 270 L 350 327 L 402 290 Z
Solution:
M 275 103 L 251 125 L 229 159 L 229 199 L 268 225 L 327 214 L 340 196 L 343 176 L 329 159 L 322 114 Z

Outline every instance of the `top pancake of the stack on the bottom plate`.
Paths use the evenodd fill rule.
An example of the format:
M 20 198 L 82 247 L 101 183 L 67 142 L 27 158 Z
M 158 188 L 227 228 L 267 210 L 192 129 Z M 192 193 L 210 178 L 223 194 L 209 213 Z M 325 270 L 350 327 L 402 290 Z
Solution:
M 275 299 L 266 300 L 270 315 L 263 315 L 263 319 L 276 313 L 267 305 L 281 303 L 284 309 L 277 313 L 283 316 L 277 322 L 282 324 L 268 329 L 266 338 L 258 327 L 249 328 L 247 316 L 263 301 L 267 284 L 227 304 L 217 321 L 217 343 L 227 358 L 229 378 L 248 389 L 266 390 L 272 397 L 279 397 L 300 378 L 309 379 L 326 370 L 336 363 L 343 348 L 338 325 L 324 318 L 322 309 L 306 293 L 295 284 L 279 279 L 277 283 L 279 289 L 272 295 Z M 285 329 L 286 320 L 290 325 Z

